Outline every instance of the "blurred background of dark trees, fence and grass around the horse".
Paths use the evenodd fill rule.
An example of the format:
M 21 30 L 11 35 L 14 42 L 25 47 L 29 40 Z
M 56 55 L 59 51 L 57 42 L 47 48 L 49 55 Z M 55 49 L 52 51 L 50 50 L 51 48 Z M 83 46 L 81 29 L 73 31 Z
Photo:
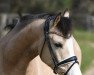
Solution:
M 18 12 L 56 13 L 66 8 L 70 10 L 73 35 L 82 50 L 81 70 L 84 75 L 94 75 L 94 0 L 0 0 L 0 34 Z

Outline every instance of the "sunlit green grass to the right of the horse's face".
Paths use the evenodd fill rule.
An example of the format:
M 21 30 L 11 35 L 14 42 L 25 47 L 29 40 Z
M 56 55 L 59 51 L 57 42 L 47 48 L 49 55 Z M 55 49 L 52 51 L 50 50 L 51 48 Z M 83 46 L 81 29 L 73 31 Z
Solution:
M 94 60 L 94 33 L 75 30 L 73 35 L 82 50 L 81 70 L 84 72 Z

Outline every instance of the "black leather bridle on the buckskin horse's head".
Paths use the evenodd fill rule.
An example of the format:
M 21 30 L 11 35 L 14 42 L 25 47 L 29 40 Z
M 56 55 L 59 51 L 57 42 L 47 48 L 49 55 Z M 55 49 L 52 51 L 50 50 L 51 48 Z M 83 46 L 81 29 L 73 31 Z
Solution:
M 44 43 L 43 43 L 43 46 L 42 46 L 41 51 L 43 51 L 43 48 L 44 48 L 44 45 L 45 45 L 45 42 L 46 42 L 47 45 L 48 45 L 48 48 L 49 48 L 49 52 L 50 52 L 51 58 L 52 58 L 53 63 L 54 63 L 54 69 L 53 69 L 53 71 L 54 71 L 55 74 L 58 73 L 57 72 L 57 69 L 58 69 L 58 67 L 60 65 L 67 64 L 69 62 L 74 61 L 72 63 L 72 65 L 68 68 L 68 70 L 64 73 L 64 75 L 67 75 L 68 72 L 70 71 L 70 69 L 73 67 L 73 65 L 75 63 L 79 63 L 79 62 L 77 61 L 77 57 L 76 56 L 72 56 L 72 57 L 70 57 L 70 58 L 68 58 L 66 60 L 61 61 L 61 62 L 58 61 L 55 53 L 53 52 L 54 50 L 52 49 L 52 46 L 51 46 L 51 43 L 50 43 L 50 39 L 49 39 L 49 33 L 50 33 L 49 32 L 49 25 L 50 25 L 49 23 L 50 23 L 51 20 L 54 20 L 54 19 L 55 19 L 55 16 L 48 16 L 47 20 L 45 21 L 45 25 L 44 25 L 44 36 L 45 36 L 45 40 L 44 40 Z

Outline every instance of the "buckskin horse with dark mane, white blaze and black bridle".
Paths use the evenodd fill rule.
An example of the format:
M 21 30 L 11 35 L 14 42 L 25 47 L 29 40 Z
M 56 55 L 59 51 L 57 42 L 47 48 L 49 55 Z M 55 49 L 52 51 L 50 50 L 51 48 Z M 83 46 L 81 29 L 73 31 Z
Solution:
M 25 75 L 29 62 L 37 55 L 54 73 L 81 75 L 73 49 L 68 11 L 65 11 L 63 16 L 61 13 L 49 14 L 46 19 L 34 19 L 30 15 L 22 17 L 11 31 L 0 39 L 0 55 L 1 75 Z

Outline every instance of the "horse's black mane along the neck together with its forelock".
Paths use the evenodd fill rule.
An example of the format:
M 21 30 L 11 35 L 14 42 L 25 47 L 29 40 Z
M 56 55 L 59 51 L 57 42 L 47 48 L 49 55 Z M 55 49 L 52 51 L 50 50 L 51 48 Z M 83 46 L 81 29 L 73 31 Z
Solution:
M 25 22 L 25 24 L 28 25 L 29 23 L 32 22 L 32 20 L 47 19 L 48 16 L 55 16 L 55 15 L 56 15 L 56 13 L 27 14 L 27 15 L 21 16 L 21 18 L 19 18 L 19 19 L 20 19 L 20 23 L 23 24 L 23 22 Z M 10 26 L 12 26 L 12 27 L 9 27 L 9 26 L 7 26 L 7 27 L 10 28 L 10 31 L 11 31 L 16 26 L 16 24 L 13 23 Z M 5 27 L 5 28 L 7 28 L 7 27 Z M 71 19 L 67 18 L 67 17 L 61 17 L 61 19 L 57 25 L 57 28 L 59 29 L 60 32 L 62 32 L 64 38 L 68 38 L 69 34 L 72 31 Z

